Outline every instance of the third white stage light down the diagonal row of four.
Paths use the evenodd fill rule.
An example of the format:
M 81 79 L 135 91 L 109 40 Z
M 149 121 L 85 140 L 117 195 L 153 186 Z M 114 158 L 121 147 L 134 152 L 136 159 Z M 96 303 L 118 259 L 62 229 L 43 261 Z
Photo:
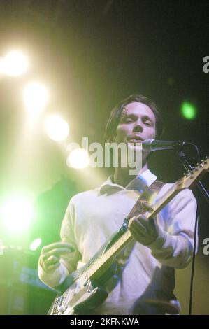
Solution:
M 49 116 L 45 119 L 45 132 L 54 141 L 64 141 L 69 134 L 69 125 L 60 116 Z

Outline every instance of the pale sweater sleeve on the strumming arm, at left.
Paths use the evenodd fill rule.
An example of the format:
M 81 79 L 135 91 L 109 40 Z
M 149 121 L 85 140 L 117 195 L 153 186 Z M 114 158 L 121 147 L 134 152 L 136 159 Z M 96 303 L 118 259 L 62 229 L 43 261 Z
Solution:
M 43 283 L 51 288 L 59 286 L 66 276 L 71 272 L 75 271 L 78 260 L 80 260 L 81 255 L 78 251 L 74 236 L 74 224 L 75 223 L 75 207 L 73 203 L 73 198 L 69 202 L 69 206 L 66 209 L 64 219 L 62 221 L 62 227 L 60 232 L 60 237 L 63 242 L 67 242 L 73 246 L 74 251 L 68 255 L 62 256 L 60 258 L 60 265 L 52 273 L 46 273 L 41 267 L 40 259 L 38 261 L 38 276 Z

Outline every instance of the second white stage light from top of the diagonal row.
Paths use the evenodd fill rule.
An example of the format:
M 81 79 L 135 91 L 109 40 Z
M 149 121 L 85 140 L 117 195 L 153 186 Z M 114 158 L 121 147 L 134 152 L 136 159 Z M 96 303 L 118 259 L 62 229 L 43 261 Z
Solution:
M 37 114 L 48 103 L 48 90 L 41 83 L 29 83 L 23 92 L 24 104 L 32 114 Z

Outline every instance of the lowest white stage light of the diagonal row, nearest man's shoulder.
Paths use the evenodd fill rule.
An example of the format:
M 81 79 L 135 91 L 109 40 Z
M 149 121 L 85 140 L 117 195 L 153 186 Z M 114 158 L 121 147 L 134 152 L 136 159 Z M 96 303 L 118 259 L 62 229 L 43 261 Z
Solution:
M 85 149 L 75 148 L 67 158 L 67 165 L 75 169 L 84 169 L 89 165 L 89 155 Z

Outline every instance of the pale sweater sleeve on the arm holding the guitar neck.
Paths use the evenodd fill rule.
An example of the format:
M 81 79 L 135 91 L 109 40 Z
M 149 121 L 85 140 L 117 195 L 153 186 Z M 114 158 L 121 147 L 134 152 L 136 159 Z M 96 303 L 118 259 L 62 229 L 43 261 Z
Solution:
M 187 267 L 192 260 L 196 219 L 196 199 L 192 191 L 185 189 L 178 193 L 160 216 L 165 223 L 164 229 L 158 225 L 158 237 L 147 247 L 161 264 L 175 268 Z

